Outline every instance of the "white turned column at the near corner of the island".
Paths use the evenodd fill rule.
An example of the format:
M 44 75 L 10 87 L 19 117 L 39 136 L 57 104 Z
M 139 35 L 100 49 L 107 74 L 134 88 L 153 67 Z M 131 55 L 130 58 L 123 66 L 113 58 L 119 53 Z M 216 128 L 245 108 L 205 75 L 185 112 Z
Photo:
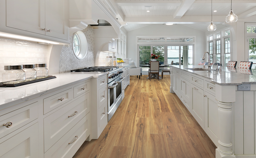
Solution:
M 218 101 L 219 140 L 215 158 L 235 158 L 231 142 L 232 132 L 232 103 L 236 101 L 236 86 L 215 85 L 215 98 Z

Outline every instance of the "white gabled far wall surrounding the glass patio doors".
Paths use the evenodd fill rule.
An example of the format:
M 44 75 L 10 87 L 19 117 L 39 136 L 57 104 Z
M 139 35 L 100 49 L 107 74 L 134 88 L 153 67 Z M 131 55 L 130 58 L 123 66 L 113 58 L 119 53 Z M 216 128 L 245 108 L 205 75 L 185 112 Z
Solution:
M 203 53 L 206 51 L 205 32 L 187 27 L 184 25 L 163 25 L 152 24 L 127 32 L 127 58 L 136 56 L 136 36 L 196 36 L 196 45 L 194 51 L 194 62 L 199 63 Z

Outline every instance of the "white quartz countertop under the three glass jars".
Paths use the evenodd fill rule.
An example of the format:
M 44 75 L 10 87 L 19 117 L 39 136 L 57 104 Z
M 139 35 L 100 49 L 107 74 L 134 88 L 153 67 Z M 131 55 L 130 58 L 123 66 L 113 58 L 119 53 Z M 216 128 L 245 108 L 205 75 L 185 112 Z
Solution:
M 107 74 L 108 72 L 65 72 L 53 74 L 56 78 L 46 81 L 19 87 L 2 87 L 0 88 L 0 106 L 3 104 L 19 104 L 21 102 L 40 97 L 46 92 L 54 92 L 90 78 L 103 77 Z

